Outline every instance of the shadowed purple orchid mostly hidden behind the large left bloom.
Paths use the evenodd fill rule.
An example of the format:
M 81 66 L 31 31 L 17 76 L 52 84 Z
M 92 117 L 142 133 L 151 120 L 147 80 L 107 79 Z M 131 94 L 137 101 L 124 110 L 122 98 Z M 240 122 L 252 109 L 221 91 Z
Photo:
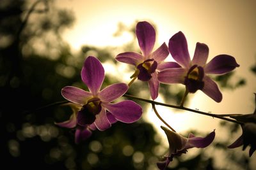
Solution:
M 84 125 L 84 126 L 78 125 L 77 124 L 77 113 L 79 110 L 81 110 L 81 106 L 78 104 L 74 104 L 74 103 L 68 103 L 68 104 L 64 104 L 64 105 L 71 107 L 72 115 L 70 116 L 69 120 L 67 120 L 65 122 L 55 123 L 55 124 L 60 127 L 66 127 L 69 129 L 76 128 L 75 143 L 80 143 L 81 141 L 88 139 L 92 135 L 92 131 L 95 131 L 97 129 L 97 127 L 95 127 L 94 124 Z M 113 115 L 111 115 L 111 113 L 109 113 L 107 111 L 106 114 L 107 114 L 108 120 L 111 124 L 114 124 L 115 122 L 117 122 L 117 120 L 115 119 L 115 117 L 113 117 Z

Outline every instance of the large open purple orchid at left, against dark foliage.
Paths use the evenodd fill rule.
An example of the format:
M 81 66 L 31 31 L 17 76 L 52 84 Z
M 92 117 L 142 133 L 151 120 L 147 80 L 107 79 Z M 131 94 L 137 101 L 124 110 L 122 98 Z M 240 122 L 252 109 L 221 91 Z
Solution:
M 111 103 L 127 92 L 128 86 L 125 83 L 115 83 L 100 91 L 104 80 L 104 68 L 97 58 L 87 57 L 81 78 L 90 92 L 72 86 L 61 90 L 65 99 L 81 106 L 81 110 L 77 112 L 77 125 L 91 127 L 94 124 L 97 129 L 104 131 L 111 127 L 107 111 L 113 118 L 124 123 L 136 122 L 141 117 L 141 106 L 134 101 Z

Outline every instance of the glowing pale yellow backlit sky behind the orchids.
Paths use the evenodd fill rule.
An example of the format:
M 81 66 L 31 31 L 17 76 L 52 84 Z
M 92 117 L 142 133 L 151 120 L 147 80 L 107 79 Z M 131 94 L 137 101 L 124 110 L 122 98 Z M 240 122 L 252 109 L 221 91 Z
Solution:
M 188 40 L 191 57 L 196 42 L 209 46 L 208 61 L 221 53 L 234 56 L 240 64 L 236 69 L 236 77 L 246 78 L 247 85 L 236 90 L 225 90 L 221 103 L 215 103 L 202 92 L 196 92 L 190 95 L 191 103 L 188 107 L 212 113 L 253 112 L 256 81 L 249 68 L 256 62 L 256 1 L 56 0 L 56 2 L 61 8 L 72 10 L 76 17 L 74 26 L 63 34 L 63 38 L 74 50 L 79 50 L 81 45 L 122 45 L 130 39 L 129 37 L 113 38 L 118 22 L 129 25 L 134 20 L 147 20 L 157 26 L 155 47 L 164 41 L 168 43 L 173 34 L 182 31 Z M 161 97 L 157 101 L 161 101 Z M 216 119 L 212 120 L 195 113 L 183 112 L 180 114 L 182 117 L 176 114 L 171 118 L 169 113 L 161 115 L 178 131 L 193 128 L 209 132 L 216 129 L 218 124 Z M 152 116 L 152 118 L 152 121 L 156 120 L 156 117 Z M 218 132 L 218 128 L 216 131 Z

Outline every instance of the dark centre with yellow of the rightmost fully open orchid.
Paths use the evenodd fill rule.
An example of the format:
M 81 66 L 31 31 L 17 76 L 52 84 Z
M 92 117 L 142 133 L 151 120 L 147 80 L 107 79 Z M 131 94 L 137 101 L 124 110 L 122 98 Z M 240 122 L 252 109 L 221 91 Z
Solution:
M 186 85 L 186 89 L 190 93 L 195 93 L 196 90 L 202 90 L 204 88 L 203 78 L 204 68 L 197 65 L 192 66 L 185 77 L 184 84 Z

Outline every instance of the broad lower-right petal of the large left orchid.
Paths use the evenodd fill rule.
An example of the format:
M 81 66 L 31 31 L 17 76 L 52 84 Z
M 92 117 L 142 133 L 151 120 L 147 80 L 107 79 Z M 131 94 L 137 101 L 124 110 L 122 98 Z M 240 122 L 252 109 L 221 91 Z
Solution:
M 103 104 L 102 104 L 103 105 Z M 121 101 L 120 103 L 107 103 L 104 107 L 120 122 L 133 123 L 140 119 L 141 106 L 134 101 Z

